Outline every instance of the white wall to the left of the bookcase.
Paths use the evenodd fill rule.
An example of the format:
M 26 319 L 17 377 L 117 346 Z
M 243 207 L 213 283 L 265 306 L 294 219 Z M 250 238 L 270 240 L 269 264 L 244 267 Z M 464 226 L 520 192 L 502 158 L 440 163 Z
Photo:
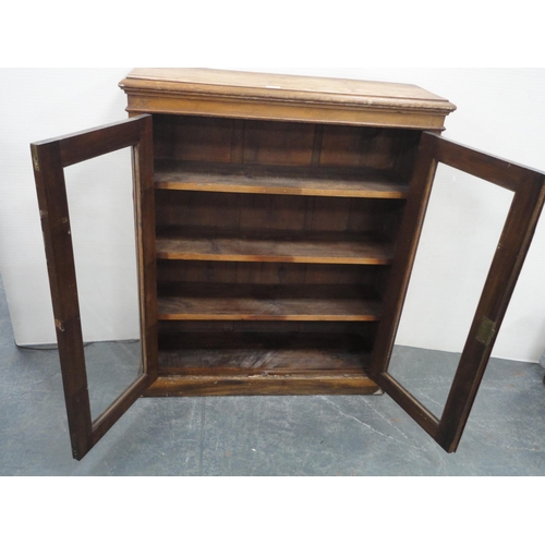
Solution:
M 56 342 L 29 143 L 124 119 L 124 94 L 117 83 L 129 70 L 0 71 L 0 104 L 5 110 L 0 129 L 0 272 L 17 344 Z M 77 171 L 77 166 L 70 169 Z M 66 179 L 72 174 L 75 175 L 75 172 L 66 172 Z M 111 175 L 111 166 L 101 172 L 95 169 L 94 174 L 95 181 L 104 187 Z M 93 187 L 90 182 L 80 180 L 73 184 L 83 190 L 80 195 L 77 192 L 74 195 L 78 207 L 85 208 L 86 205 L 87 210 L 109 209 L 111 195 L 107 193 L 104 199 L 100 193 L 89 191 Z M 118 206 L 122 204 L 118 203 Z M 80 215 L 84 221 L 89 217 L 87 210 Z M 96 213 L 93 214 L 95 216 Z M 110 222 L 114 222 L 116 217 L 116 214 L 110 214 Z M 77 217 L 71 219 L 77 222 Z M 80 225 L 74 227 L 74 235 L 83 237 L 84 247 L 90 249 L 92 261 L 101 261 L 100 267 L 87 263 L 80 264 L 77 268 L 85 284 L 82 302 L 85 339 L 134 338 L 137 335 L 137 320 L 134 319 L 137 307 L 134 296 L 129 296 L 134 292 L 134 281 L 122 283 L 123 289 L 120 289 L 119 277 L 116 281 L 113 276 L 116 263 L 119 265 L 118 249 L 121 246 L 126 253 L 132 232 L 124 229 L 120 238 L 105 240 L 101 237 L 104 231 L 111 227 L 111 232 L 116 232 L 116 226 L 97 221 L 89 229 L 88 225 Z M 100 226 L 102 229 L 97 232 Z M 101 259 L 105 254 L 113 257 Z M 134 268 L 133 262 L 131 266 Z M 133 279 L 134 274 L 129 271 L 128 277 Z M 93 287 L 97 290 L 94 294 Z M 107 302 L 107 305 L 100 305 L 100 302 Z M 112 320 L 104 319 L 105 315 L 119 318 L 114 330 L 111 328 Z

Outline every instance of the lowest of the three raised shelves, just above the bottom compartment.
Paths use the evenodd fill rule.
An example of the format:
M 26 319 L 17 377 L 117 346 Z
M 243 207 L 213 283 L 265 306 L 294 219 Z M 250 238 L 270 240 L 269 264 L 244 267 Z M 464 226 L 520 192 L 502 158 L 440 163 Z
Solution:
M 376 322 L 382 304 L 352 286 L 159 286 L 161 320 Z

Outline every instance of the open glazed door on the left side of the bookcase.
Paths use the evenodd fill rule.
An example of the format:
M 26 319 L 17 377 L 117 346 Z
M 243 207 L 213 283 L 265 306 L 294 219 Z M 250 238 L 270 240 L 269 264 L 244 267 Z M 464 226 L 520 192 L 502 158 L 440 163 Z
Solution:
M 31 150 L 72 452 L 75 459 L 81 460 L 157 376 L 154 336 L 155 234 L 154 229 L 143 229 L 143 226 L 154 225 L 152 117 L 141 116 L 39 142 L 32 144 Z M 68 169 L 83 161 L 86 162 L 74 167 L 76 171 L 92 168 L 93 161 L 100 161 L 116 154 L 123 154 L 121 159 L 126 169 L 128 192 L 126 195 L 123 194 L 126 198 L 121 201 L 126 202 L 129 209 L 122 209 L 122 206 L 116 208 L 114 199 L 109 198 L 109 192 L 118 191 L 120 183 L 117 167 L 108 167 L 111 170 L 99 169 L 98 175 L 83 179 L 83 182 L 82 178 L 71 178 L 74 170 Z M 66 183 L 66 179 L 70 183 Z M 71 192 L 78 194 L 78 198 L 71 201 Z M 113 217 L 113 226 L 119 226 L 120 217 L 128 219 L 129 225 L 114 227 L 110 231 L 105 230 L 104 234 L 106 239 L 112 239 L 116 238 L 113 229 L 124 230 L 129 237 L 129 250 L 116 245 L 111 250 L 106 243 L 109 242 L 107 240 L 105 244 L 95 244 L 90 251 L 80 254 L 74 252 L 76 242 L 89 239 L 90 231 L 105 229 L 107 220 L 93 208 L 94 198 L 102 203 L 104 210 L 100 213 L 112 208 L 109 213 Z M 73 202 L 76 204 L 72 204 Z M 74 213 L 72 218 L 71 211 Z M 93 223 L 95 217 L 97 221 Z M 110 255 L 105 255 L 108 247 Z M 123 257 L 125 254 L 136 262 L 131 264 L 131 267 L 126 267 L 126 259 Z M 113 261 L 118 271 L 121 268 L 121 274 L 118 275 L 118 283 L 108 291 L 105 278 L 111 269 L 104 269 L 110 261 Z M 90 275 L 80 275 L 80 270 L 76 271 L 83 262 L 96 265 Z M 135 319 L 134 334 L 119 334 L 113 327 L 105 329 L 105 324 L 114 318 L 118 312 L 110 303 L 114 302 L 118 295 L 121 296 L 129 284 L 134 292 L 134 308 L 131 307 L 134 312 L 131 313 L 131 319 L 135 319 L 134 315 L 140 314 L 140 324 Z M 86 331 L 85 327 L 82 327 L 82 316 L 85 313 L 81 312 L 83 298 L 80 301 L 78 293 L 82 294 L 83 291 L 86 291 L 86 299 L 96 299 L 104 303 L 99 313 L 92 312 L 84 316 L 85 325 L 86 320 L 94 322 L 94 329 L 100 331 L 94 332 L 90 341 L 84 339 Z M 126 318 L 123 318 L 126 313 L 119 316 L 121 322 L 126 322 Z M 125 337 L 121 342 L 117 338 L 120 335 Z M 122 353 L 122 362 L 119 365 L 112 360 L 116 352 Z M 100 361 L 92 362 L 97 359 Z M 130 368 L 130 372 L 126 372 L 125 367 Z M 106 377 L 102 376 L 101 383 L 89 385 L 89 378 L 93 379 L 94 375 Z M 106 396 L 100 391 L 102 386 L 113 391 Z

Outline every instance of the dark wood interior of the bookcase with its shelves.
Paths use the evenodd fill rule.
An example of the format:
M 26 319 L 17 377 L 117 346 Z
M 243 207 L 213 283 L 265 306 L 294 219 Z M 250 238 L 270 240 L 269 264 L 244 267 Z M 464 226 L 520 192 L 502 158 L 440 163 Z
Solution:
M 420 136 L 155 114 L 159 376 L 361 382 Z

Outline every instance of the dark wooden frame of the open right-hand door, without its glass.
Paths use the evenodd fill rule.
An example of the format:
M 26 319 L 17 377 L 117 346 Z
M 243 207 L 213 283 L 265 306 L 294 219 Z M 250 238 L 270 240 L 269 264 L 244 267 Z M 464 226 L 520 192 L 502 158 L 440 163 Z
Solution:
M 437 165 L 441 162 L 513 192 L 511 207 L 440 417 L 388 373 L 397 329 Z M 384 302 L 370 376 L 447 452 L 456 451 L 545 202 L 545 173 L 437 134 L 422 134 L 390 289 Z

